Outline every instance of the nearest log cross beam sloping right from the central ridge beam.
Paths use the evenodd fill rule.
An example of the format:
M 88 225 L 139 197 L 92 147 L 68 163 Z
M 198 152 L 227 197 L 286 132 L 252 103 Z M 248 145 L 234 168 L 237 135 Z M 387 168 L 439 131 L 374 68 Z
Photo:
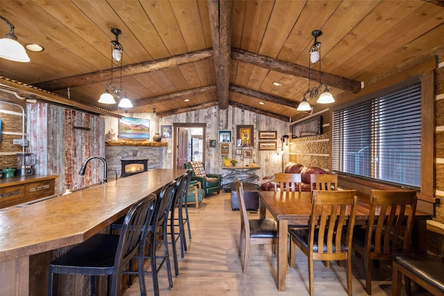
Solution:
M 291 62 L 284 62 L 282 60 L 269 58 L 265 55 L 258 55 L 256 53 L 250 53 L 241 49 L 231 49 L 231 58 L 233 60 L 238 60 L 239 62 L 254 64 L 255 66 L 259 66 L 264 69 L 308 79 L 309 69 L 298 64 L 291 64 Z M 310 79 L 319 82 L 319 71 L 310 69 L 310 72 Z M 327 83 L 329 86 L 343 89 L 346 92 L 352 92 L 354 94 L 357 94 L 359 89 L 361 89 L 361 82 L 359 81 L 343 78 L 341 76 L 336 76 L 325 72 L 321 72 L 321 80 L 323 83 Z

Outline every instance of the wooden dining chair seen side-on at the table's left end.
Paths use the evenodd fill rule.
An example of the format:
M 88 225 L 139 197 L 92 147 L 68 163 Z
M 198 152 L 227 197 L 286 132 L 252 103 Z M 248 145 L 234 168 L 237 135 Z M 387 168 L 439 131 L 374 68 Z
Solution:
M 239 239 L 239 256 L 244 250 L 242 270 L 247 272 L 250 245 L 273 245 L 273 253 L 278 245 L 278 223 L 273 219 L 248 219 L 244 200 L 244 186 L 236 179 L 239 212 L 241 213 L 241 235 Z

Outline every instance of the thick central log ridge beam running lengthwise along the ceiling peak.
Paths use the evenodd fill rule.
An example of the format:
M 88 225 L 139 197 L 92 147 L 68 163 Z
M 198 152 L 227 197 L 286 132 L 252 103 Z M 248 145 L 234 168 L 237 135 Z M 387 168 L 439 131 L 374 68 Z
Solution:
M 228 107 L 232 1 L 208 0 L 219 107 Z

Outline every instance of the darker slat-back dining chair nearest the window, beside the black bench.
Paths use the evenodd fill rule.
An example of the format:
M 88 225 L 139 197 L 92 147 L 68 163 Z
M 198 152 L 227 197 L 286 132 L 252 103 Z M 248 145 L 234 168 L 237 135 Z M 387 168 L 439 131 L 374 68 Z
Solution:
M 409 207 L 409 209 L 407 209 Z M 372 295 L 371 261 L 409 253 L 416 211 L 416 191 L 372 190 L 365 227 L 357 227 L 352 248 L 364 260 L 366 292 Z

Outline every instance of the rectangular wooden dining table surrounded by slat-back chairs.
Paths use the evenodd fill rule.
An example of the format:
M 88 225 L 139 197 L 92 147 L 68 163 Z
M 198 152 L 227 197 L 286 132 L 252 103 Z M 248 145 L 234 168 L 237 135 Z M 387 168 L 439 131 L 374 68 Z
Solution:
M 307 225 L 311 216 L 311 192 L 259 191 L 259 218 L 266 218 L 266 211 L 278 222 L 277 279 L 278 290 L 285 290 L 288 262 L 289 225 Z M 355 225 L 365 225 L 370 213 L 369 199 L 358 196 Z M 412 245 L 418 252 L 426 252 L 427 220 L 429 214 L 415 213 Z

